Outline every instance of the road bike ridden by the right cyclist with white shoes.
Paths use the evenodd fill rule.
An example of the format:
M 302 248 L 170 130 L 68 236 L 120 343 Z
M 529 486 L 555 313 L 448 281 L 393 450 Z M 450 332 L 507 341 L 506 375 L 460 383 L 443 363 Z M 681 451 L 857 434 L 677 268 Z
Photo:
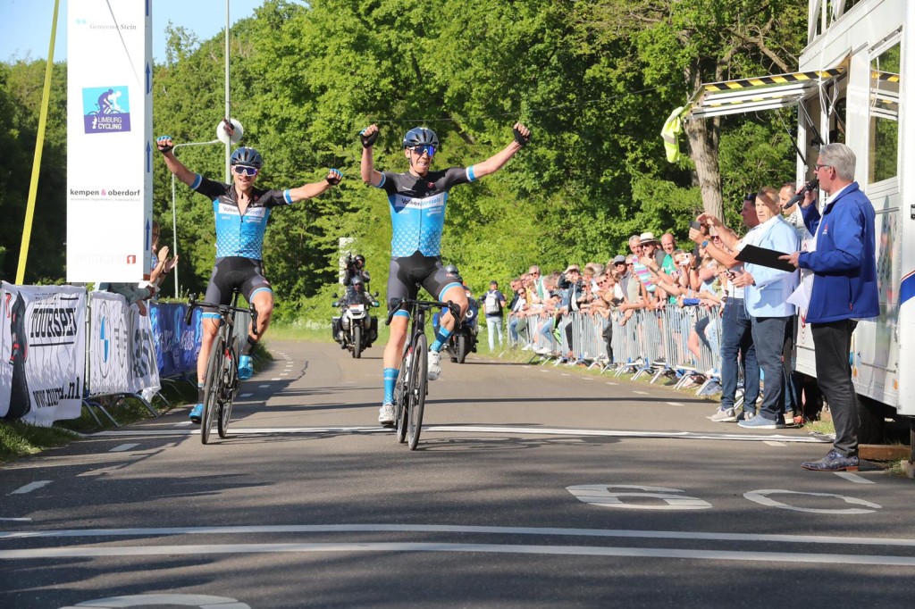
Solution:
M 400 310 L 410 314 L 410 338 L 404 344 L 400 372 L 394 385 L 394 421 L 397 427 L 397 441 L 406 441 L 410 450 L 416 450 L 419 434 L 423 429 L 425 396 L 428 394 L 428 339 L 425 337 L 425 314 L 431 309 L 447 307 L 455 319 L 460 319 L 460 308 L 451 301 L 408 300 L 396 301 L 384 322 L 391 325 L 395 313 Z

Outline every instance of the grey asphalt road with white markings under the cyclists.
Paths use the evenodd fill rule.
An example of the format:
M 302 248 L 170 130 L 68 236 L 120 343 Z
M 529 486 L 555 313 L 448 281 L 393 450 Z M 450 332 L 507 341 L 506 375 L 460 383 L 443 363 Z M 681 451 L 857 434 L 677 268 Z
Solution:
M 911 604 L 912 481 L 803 470 L 802 430 L 472 356 L 411 452 L 381 347 L 270 349 L 225 440 L 182 408 L 0 469 L 0 607 Z

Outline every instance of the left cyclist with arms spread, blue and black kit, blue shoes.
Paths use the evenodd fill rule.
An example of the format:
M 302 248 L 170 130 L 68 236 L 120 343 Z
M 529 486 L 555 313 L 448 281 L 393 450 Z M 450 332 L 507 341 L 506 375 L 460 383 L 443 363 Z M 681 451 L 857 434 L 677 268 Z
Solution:
M 168 170 L 212 201 L 216 216 L 216 265 L 204 301 L 229 305 L 232 290 L 237 287 L 257 311 L 257 335 L 249 328 L 248 341 L 238 358 L 239 378 L 250 379 L 253 374 L 251 351 L 258 338 L 263 337 L 270 326 L 270 315 L 274 310 L 274 292 L 264 277 L 262 254 L 264 230 L 267 228 L 270 210 L 318 197 L 330 187 L 338 185 L 342 176 L 338 170 L 331 169 L 324 179 L 301 187 L 287 190 L 255 188 L 254 180 L 264 166 L 264 159 L 253 148 L 242 147 L 231 154 L 233 183 L 223 184 L 193 173 L 178 161 L 172 152 L 174 144 L 170 135 L 158 138 L 157 145 L 165 156 Z M 203 333 L 197 358 L 199 403 L 190 411 L 190 420 L 193 422 L 200 422 L 203 412 L 207 358 L 210 357 L 210 347 L 219 331 L 219 321 L 218 313 L 204 309 Z

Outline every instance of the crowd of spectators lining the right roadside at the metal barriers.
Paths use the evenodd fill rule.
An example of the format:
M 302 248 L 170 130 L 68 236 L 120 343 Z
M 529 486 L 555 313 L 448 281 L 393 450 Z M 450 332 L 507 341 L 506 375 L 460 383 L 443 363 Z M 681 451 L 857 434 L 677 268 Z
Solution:
M 628 252 L 607 262 L 572 262 L 552 272 L 532 265 L 506 291 L 510 344 L 568 365 L 591 365 L 595 359 L 605 367 L 628 365 L 615 358 L 614 333 L 633 323 L 653 324 L 662 314 L 675 315 L 689 320 L 686 358 L 698 362 L 702 351 L 714 356 L 714 369 L 690 369 L 684 383 L 714 379 L 721 404 L 710 420 L 774 429 L 817 417 L 817 392 L 802 387 L 792 372 L 797 315 L 786 301 L 799 272 L 737 260 L 748 244 L 786 254 L 802 249 L 811 235 L 797 202 L 786 206 L 795 191 L 788 183 L 780 190 L 763 187 L 749 193 L 740 203 L 744 226 L 739 232 L 702 214 L 684 227 L 686 242 L 671 232 L 659 239 L 645 231 L 630 237 Z M 685 315 L 691 307 L 702 315 Z M 648 315 L 652 312 L 656 315 Z M 570 322 L 574 316 L 603 321 L 595 324 L 602 328 L 602 353 L 587 358 L 575 348 L 580 338 Z M 647 366 L 671 369 L 673 361 L 659 359 Z

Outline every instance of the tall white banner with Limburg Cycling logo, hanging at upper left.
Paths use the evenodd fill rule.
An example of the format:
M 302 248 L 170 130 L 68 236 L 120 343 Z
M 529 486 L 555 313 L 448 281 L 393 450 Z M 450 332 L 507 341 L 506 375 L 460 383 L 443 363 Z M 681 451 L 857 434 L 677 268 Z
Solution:
M 70 0 L 67 280 L 139 282 L 152 233 L 152 0 Z

